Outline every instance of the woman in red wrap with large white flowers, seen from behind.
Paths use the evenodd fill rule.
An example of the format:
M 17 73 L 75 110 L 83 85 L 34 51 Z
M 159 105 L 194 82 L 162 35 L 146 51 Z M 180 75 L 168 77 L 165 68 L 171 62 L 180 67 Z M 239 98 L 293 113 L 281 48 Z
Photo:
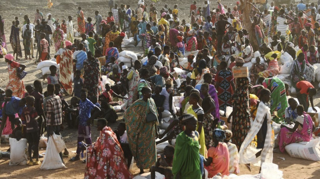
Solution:
M 100 131 L 99 137 L 86 150 L 84 178 L 132 179 L 120 143 L 111 128 L 106 126 L 105 119 L 98 119 L 97 130 Z

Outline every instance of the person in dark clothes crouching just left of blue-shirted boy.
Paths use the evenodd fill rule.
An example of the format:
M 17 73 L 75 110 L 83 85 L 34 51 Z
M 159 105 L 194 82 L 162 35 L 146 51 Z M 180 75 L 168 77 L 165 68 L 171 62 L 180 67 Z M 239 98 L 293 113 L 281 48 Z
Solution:
M 76 96 L 73 96 L 70 100 L 69 107 L 66 108 L 64 117 L 66 119 L 66 122 L 68 124 L 69 129 L 77 128 L 77 116 L 79 115 L 79 98 Z

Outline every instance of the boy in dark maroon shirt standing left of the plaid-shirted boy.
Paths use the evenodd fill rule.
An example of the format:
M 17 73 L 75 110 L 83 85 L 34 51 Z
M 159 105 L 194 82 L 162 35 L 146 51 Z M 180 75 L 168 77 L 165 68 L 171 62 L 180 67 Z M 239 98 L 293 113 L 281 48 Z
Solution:
M 38 134 L 38 114 L 36 113 L 34 105 L 34 97 L 27 96 L 26 97 L 26 107 L 23 108 L 21 118 L 26 121 L 26 138 L 28 142 L 28 153 L 29 153 L 29 166 L 40 165 L 40 161 L 38 159 L 39 155 L 39 134 Z M 32 150 L 33 156 L 35 157 L 35 161 L 32 161 Z

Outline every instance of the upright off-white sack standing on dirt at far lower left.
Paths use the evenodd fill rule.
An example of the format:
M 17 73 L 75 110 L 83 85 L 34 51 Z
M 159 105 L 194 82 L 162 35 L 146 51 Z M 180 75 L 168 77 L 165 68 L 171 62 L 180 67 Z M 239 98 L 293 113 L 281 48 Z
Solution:
M 25 154 L 25 151 L 27 148 L 27 140 L 20 139 L 19 141 L 17 141 L 14 138 L 9 138 L 9 144 L 10 144 L 9 166 L 26 165 L 27 155 Z

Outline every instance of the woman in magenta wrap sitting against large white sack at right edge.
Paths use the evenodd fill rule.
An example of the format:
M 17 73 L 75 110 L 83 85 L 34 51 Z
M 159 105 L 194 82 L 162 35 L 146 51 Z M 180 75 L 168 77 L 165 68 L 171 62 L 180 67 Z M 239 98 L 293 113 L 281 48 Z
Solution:
M 293 128 L 281 125 L 281 130 L 277 137 L 280 152 L 284 152 L 284 147 L 286 145 L 299 142 L 309 142 L 312 139 L 314 124 L 310 115 L 303 111 L 304 109 L 302 105 L 298 105 L 296 107 L 296 113 L 298 116 L 295 119 Z

